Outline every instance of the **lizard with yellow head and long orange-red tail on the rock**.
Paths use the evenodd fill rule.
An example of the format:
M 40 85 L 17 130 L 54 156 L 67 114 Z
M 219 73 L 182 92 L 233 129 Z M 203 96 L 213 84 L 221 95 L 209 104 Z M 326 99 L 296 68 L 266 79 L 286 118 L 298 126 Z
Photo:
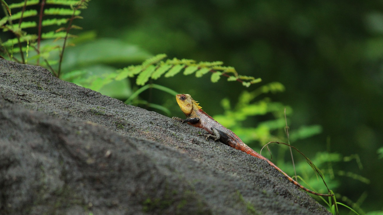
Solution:
M 309 192 L 314 195 L 321 195 L 321 196 L 334 195 L 334 194 L 321 194 L 318 192 L 311 191 L 308 188 L 296 182 L 293 178 L 288 176 L 288 174 L 283 172 L 282 169 L 280 169 L 277 165 L 275 165 L 270 160 L 260 155 L 259 153 L 254 151 L 252 148 L 247 146 L 244 142 L 242 142 L 242 140 L 236 134 L 234 134 L 234 132 L 227 129 L 226 127 L 221 125 L 219 122 L 215 121 L 213 117 L 209 116 L 205 111 L 202 110 L 201 106 L 199 106 L 199 103 L 197 103 L 197 101 L 191 98 L 189 94 L 177 94 L 176 100 L 177 100 L 178 106 L 180 106 L 181 108 L 181 111 L 185 114 L 186 119 L 181 119 L 178 117 L 173 117 L 173 119 L 180 121 L 182 123 L 188 123 L 195 127 L 205 129 L 209 133 L 209 134 L 200 134 L 201 136 L 205 136 L 206 139 L 212 138 L 214 141 L 220 140 L 222 143 L 232 148 L 244 151 L 247 154 L 250 154 L 256 158 L 267 161 L 267 163 L 269 163 L 271 166 L 273 166 L 275 169 L 277 169 L 283 175 L 285 175 L 289 181 L 291 181 L 297 187 L 299 187 L 300 189 L 306 192 Z

